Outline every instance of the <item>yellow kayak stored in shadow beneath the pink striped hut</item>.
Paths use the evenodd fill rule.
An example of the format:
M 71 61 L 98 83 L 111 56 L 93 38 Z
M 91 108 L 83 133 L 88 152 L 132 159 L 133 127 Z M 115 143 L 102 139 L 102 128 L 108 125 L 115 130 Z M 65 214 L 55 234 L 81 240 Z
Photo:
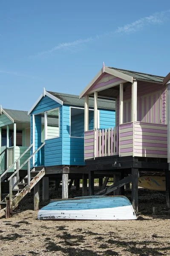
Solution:
M 166 191 L 165 177 L 143 176 L 138 178 L 138 186 L 150 190 Z

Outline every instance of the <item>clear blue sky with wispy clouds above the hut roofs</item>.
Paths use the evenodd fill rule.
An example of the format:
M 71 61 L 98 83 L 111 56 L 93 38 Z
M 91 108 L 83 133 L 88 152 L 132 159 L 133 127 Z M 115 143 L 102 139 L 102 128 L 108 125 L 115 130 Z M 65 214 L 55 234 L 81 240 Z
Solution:
M 106 66 L 170 72 L 169 0 L 1 0 L 0 105 L 29 110 L 43 92 L 80 94 Z

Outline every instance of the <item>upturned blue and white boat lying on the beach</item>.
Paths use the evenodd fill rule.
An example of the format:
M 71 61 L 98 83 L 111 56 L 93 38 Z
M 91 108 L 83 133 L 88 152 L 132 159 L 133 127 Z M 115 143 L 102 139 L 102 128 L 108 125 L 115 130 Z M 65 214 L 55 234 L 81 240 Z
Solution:
M 40 220 L 132 220 L 136 219 L 136 215 L 130 201 L 125 197 L 96 196 L 96 198 L 56 200 L 40 209 L 37 218 Z

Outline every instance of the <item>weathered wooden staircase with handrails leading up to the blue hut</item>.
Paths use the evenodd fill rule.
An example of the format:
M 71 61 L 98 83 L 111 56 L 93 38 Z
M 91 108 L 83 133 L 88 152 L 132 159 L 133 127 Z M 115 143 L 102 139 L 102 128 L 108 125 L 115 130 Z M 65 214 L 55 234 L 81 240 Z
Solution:
M 0 196 L 0 217 L 6 215 L 6 218 L 12 216 L 12 210 L 18 206 L 18 203 L 24 198 L 24 196 L 31 192 L 31 189 L 39 182 L 39 180 L 45 175 L 44 166 L 38 166 L 30 170 L 30 159 L 43 147 L 43 143 L 20 167 L 18 162 L 21 157 L 28 151 L 28 149 L 5 171 L 0 175 L 0 192 L 1 181 L 3 176 L 16 164 L 17 169 L 8 178 L 9 181 L 9 194 L 1 201 Z M 29 147 L 31 148 L 32 145 Z M 27 175 L 22 180 L 19 177 L 19 170 L 27 163 Z M 1 195 L 1 193 L 0 193 Z

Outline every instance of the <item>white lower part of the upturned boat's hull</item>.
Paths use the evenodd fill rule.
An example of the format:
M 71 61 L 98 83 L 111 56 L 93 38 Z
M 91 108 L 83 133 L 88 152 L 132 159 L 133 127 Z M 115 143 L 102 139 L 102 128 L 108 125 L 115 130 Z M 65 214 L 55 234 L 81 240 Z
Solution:
M 132 205 L 83 210 L 40 210 L 38 219 L 68 219 L 68 220 L 135 220 Z

